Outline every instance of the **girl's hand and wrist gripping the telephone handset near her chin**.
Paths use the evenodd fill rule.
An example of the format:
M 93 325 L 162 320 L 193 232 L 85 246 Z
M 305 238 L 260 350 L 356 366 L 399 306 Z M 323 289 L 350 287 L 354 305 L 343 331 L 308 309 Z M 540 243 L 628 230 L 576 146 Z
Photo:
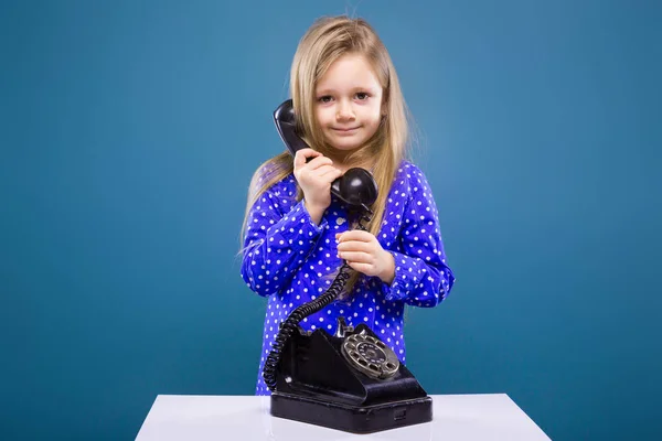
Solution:
M 316 224 L 331 205 L 331 183 L 341 175 L 333 161 L 316 150 L 301 149 L 295 154 L 295 178 L 303 191 L 306 209 Z

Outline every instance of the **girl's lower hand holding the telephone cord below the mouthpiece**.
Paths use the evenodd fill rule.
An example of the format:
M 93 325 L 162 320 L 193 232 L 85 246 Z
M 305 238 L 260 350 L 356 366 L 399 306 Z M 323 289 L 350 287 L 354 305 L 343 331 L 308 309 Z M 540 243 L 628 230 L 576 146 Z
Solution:
M 377 241 L 377 238 L 361 229 L 352 229 L 337 234 L 338 255 L 348 265 L 366 276 L 376 276 L 385 283 L 391 283 L 395 277 L 395 260 L 393 255 Z

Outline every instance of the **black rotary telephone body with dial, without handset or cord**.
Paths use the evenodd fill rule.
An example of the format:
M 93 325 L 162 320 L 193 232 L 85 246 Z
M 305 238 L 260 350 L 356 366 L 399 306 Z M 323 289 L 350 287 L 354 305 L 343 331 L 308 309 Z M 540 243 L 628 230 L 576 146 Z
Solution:
M 341 318 L 335 335 L 301 329 L 291 335 L 271 415 L 370 433 L 431 421 L 433 400 L 370 327 L 345 326 Z

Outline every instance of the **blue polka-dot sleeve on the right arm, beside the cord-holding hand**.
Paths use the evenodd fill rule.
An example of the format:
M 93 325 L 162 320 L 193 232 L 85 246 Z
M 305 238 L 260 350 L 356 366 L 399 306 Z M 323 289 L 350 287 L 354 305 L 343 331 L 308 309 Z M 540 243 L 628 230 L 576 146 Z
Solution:
M 450 292 L 455 277 L 446 263 L 437 206 L 427 179 L 412 171 L 410 197 L 399 234 L 399 251 L 388 250 L 395 260 L 391 284 L 382 283 L 386 300 L 433 308 Z

